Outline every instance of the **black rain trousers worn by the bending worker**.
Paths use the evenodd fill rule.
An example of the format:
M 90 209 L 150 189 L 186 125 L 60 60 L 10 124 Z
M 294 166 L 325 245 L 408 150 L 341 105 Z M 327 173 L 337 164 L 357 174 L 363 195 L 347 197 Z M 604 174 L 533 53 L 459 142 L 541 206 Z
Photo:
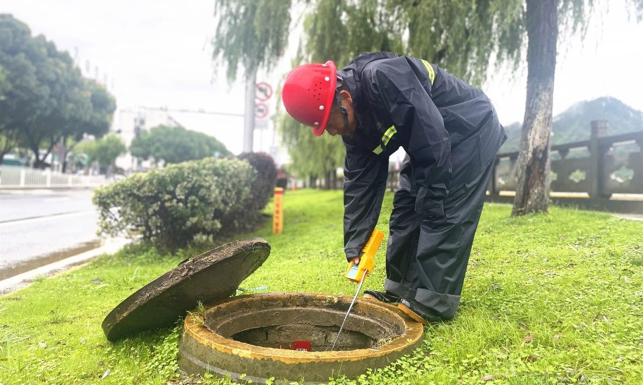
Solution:
M 415 212 L 411 192 L 400 189 L 395 193 L 386 250 L 386 291 L 415 299 L 443 319 L 455 317 L 492 171 L 493 162 L 471 182 L 451 187 L 444 199 L 444 216 L 422 218 Z

